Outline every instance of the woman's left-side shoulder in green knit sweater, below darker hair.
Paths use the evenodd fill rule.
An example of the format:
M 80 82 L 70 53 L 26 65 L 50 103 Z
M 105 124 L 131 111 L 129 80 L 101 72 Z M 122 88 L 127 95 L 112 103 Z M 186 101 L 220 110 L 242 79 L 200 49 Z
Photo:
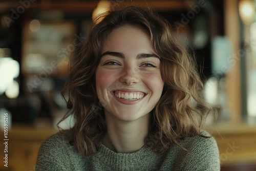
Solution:
M 82 157 L 76 151 L 72 139 L 71 131 L 61 131 L 42 142 L 36 170 L 67 170 L 82 166 Z

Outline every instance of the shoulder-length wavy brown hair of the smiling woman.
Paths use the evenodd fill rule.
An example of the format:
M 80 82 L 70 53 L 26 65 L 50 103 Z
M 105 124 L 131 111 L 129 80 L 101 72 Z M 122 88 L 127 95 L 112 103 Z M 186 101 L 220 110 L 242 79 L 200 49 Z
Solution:
M 145 144 L 157 153 L 163 153 L 170 145 L 179 145 L 179 140 L 184 137 L 200 135 L 203 116 L 214 108 L 202 99 L 203 83 L 194 58 L 178 43 L 170 24 L 150 8 L 133 6 L 110 11 L 101 18 L 71 57 L 68 80 L 62 91 L 70 109 L 62 120 L 74 115 L 75 124 L 71 130 L 78 152 L 82 156 L 95 153 L 106 133 L 103 104 L 95 90 L 95 71 L 106 37 L 124 25 L 145 30 L 161 61 L 164 88 L 151 112 L 151 126 Z M 152 137 L 157 141 L 148 141 Z

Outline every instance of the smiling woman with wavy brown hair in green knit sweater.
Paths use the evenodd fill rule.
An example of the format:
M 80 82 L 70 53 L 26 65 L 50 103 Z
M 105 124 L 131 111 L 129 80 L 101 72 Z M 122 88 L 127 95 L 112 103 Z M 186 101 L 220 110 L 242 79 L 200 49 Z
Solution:
M 70 60 L 75 125 L 42 144 L 36 170 L 220 170 L 201 129 L 212 109 L 171 29 L 150 9 L 103 16 Z

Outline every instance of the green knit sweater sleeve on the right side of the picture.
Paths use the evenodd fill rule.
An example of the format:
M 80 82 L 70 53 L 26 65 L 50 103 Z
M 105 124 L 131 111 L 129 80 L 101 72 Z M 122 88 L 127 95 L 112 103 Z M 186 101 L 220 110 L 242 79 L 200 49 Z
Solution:
M 207 135 L 207 133 L 204 133 Z M 220 170 L 220 157 L 217 143 L 213 137 L 196 136 L 185 147 L 187 152 L 179 156 L 180 163 L 175 170 Z

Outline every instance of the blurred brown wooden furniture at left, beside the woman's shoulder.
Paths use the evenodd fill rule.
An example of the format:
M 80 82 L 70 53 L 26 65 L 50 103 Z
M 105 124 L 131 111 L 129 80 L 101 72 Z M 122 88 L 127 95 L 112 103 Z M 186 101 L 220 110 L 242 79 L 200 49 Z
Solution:
M 8 130 L 8 167 L 4 166 L 4 133 L 1 130 L 1 171 L 34 171 L 38 149 L 44 139 L 55 134 L 54 128 L 36 128 L 32 126 L 12 126 Z

